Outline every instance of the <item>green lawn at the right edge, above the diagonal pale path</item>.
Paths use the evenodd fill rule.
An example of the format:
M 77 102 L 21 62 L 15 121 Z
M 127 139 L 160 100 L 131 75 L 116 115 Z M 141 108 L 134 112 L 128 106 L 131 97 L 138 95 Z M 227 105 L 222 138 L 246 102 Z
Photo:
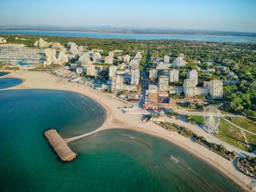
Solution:
M 256 134 L 256 122 L 248 118 L 229 118 L 230 121 L 241 128 L 251 131 Z

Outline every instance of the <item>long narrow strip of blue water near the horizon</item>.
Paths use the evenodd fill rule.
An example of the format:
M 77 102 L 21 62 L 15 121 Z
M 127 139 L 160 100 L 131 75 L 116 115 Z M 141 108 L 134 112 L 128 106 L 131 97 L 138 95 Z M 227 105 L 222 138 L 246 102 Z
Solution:
M 0 31 L 0 34 L 48 35 L 58 37 L 91 37 L 105 39 L 181 39 L 210 42 L 256 42 L 256 37 L 218 36 L 218 35 L 187 35 L 187 34 L 118 34 L 80 31 Z

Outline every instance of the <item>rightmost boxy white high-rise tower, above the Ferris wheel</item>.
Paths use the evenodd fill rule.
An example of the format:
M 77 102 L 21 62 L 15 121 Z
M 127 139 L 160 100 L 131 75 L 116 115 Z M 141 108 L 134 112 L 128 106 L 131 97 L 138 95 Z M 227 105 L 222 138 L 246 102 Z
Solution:
M 211 99 L 223 99 L 223 82 L 221 80 L 211 80 L 208 89 Z

